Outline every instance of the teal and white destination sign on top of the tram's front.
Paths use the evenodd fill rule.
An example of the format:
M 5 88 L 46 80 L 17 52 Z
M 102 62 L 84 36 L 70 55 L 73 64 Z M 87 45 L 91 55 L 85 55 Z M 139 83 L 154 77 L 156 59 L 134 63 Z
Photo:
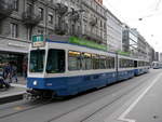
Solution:
M 44 45 L 45 45 L 45 42 L 44 42 L 43 35 L 32 36 L 32 46 L 33 48 L 42 48 Z

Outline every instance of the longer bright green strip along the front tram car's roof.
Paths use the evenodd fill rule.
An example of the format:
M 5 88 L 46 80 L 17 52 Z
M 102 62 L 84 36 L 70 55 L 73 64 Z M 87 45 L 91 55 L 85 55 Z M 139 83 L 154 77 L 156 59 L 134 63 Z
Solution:
M 93 41 L 81 39 L 81 38 L 77 38 L 77 37 L 70 37 L 69 38 L 69 42 L 70 43 L 75 43 L 75 44 L 79 44 L 79 45 L 85 45 L 85 46 L 93 48 L 93 49 L 107 51 L 107 46 L 106 45 L 100 45 L 100 44 L 95 43 Z

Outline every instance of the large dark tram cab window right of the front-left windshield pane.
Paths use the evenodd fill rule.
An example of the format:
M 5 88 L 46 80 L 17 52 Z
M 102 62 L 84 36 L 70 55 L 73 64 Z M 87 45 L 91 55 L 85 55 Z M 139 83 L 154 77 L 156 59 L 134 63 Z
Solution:
M 65 72 L 65 51 L 50 49 L 46 64 L 48 73 Z

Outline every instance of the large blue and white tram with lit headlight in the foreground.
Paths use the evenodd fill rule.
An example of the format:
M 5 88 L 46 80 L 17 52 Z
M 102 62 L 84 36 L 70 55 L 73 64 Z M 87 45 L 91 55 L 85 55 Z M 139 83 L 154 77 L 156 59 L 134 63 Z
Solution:
M 140 60 L 141 62 L 141 60 Z M 135 74 L 139 60 L 117 53 L 45 39 L 44 46 L 30 45 L 27 93 L 33 97 L 69 96 L 106 86 Z M 144 66 L 147 62 L 143 60 Z

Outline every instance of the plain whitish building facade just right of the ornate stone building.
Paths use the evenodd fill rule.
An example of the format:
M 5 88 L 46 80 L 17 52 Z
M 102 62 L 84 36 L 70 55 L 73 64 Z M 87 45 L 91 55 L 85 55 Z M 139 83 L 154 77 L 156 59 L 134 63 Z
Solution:
M 108 51 L 122 51 L 122 23 L 107 10 L 107 45 Z

